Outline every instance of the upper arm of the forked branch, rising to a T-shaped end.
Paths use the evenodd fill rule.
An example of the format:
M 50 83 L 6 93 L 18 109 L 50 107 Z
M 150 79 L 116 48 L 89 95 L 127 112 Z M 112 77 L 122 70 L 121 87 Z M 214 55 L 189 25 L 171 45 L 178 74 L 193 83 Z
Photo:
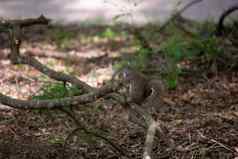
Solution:
M 25 26 L 31 26 L 35 24 L 48 24 L 49 20 L 46 19 L 44 16 L 40 16 L 37 19 L 23 19 L 23 20 L 10 20 L 5 23 L 9 23 L 11 25 L 11 29 L 9 29 L 9 40 L 11 44 L 11 53 L 10 53 L 10 59 L 13 64 L 27 64 L 38 71 L 46 74 L 52 79 L 62 81 L 62 82 L 69 82 L 73 85 L 76 85 L 78 87 L 81 87 L 84 91 L 90 92 L 94 91 L 95 88 L 89 86 L 87 83 L 80 81 L 76 77 L 56 72 L 50 68 L 48 68 L 45 65 L 42 65 L 38 60 L 34 59 L 30 56 L 21 56 L 20 55 L 20 45 L 22 40 L 22 29 L 21 27 Z M 2 24 L 5 24 L 2 22 Z M 0 24 L 1 25 L 1 24 Z

